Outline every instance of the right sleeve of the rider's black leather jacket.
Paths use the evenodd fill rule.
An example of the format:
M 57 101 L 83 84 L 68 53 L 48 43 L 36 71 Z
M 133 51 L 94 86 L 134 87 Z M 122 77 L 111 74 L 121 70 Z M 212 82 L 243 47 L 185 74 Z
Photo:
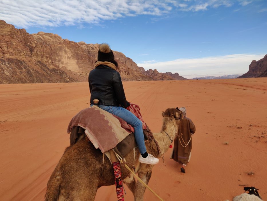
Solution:
M 126 98 L 125 98 L 125 93 L 124 89 L 122 86 L 120 74 L 118 72 L 114 73 L 113 75 L 113 88 L 117 97 L 118 102 L 120 105 L 124 108 L 128 107 Z

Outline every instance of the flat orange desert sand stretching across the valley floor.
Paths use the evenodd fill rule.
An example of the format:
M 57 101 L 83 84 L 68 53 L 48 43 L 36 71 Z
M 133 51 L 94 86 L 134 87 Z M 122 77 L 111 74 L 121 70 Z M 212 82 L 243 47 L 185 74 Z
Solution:
M 267 200 L 267 78 L 124 82 L 153 132 L 161 112 L 186 107 L 196 125 L 192 157 L 181 173 L 169 159 L 149 186 L 164 200 L 231 200 L 254 186 Z M 0 85 L 0 200 L 44 200 L 46 183 L 69 146 L 70 119 L 89 107 L 88 83 Z M 253 172 L 253 175 L 248 173 Z M 133 200 L 125 185 L 125 200 Z M 116 200 L 115 186 L 97 201 Z M 146 190 L 144 200 L 157 200 Z

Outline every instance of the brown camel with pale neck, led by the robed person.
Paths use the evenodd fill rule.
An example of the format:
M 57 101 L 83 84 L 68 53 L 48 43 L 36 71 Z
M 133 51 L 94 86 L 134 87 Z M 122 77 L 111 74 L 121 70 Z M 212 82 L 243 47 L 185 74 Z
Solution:
M 155 157 L 162 156 L 178 134 L 178 126 L 182 112 L 168 108 L 162 112 L 163 125 L 161 132 L 153 134 L 155 141 L 146 142 L 147 152 Z M 135 173 L 148 184 L 153 165 L 139 163 L 138 148 L 125 156 L 128 164 L 135 166 Z M 123 183 L 126 183 L 134 195 L 135 201 L 142 201 L 145 193 L 144 185 L 135 180 L 134 175 L 121 165 Z M 87 142 L 85 137 L 76 144 L 66 148 L 58 165 L 54 169 L 45 195 L 46 201 L 54 200 L 94 200 L 97 189 L 101 186 L 114 185 L 114 172 L 108 159 L 102 164 L 102 153 Z M 114 193 L 115 193 L 114 188 Z M 155 197 L 156 198 L 156 197 Z

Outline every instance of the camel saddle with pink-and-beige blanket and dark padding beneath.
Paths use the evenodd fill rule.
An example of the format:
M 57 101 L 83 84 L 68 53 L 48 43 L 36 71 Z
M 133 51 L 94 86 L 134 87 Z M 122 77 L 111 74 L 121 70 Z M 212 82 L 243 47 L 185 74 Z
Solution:
M 132 108 L 132 110 L 135 110 L 135 108 Z M 144 125 L 145 140 L 151 141 L 154 139 L 153 134 L 145 123 Z M 67 132 L 70 133 L 70 145 L 85 137 L 102 153 L 114 149 L 121 158 L 124 158 L 132 149 L 137 147 L 133 133 L 134 129 L 120 117 L 96 106 L 77 113 L 70 121 Z

